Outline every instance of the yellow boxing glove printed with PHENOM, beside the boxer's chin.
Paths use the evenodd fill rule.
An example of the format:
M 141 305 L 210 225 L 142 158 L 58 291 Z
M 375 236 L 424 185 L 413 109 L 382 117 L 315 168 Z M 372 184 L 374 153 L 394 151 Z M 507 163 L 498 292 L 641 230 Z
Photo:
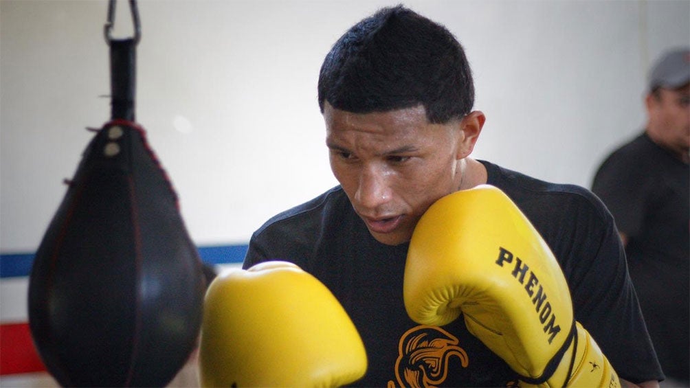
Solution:
M 410 242 L 404 300 L 423 325 L 462 314 L 523 386 L 620 387 L 609 360 L 574 321 L 551 249 L 496 187 L 455 192 L 429 207 Z

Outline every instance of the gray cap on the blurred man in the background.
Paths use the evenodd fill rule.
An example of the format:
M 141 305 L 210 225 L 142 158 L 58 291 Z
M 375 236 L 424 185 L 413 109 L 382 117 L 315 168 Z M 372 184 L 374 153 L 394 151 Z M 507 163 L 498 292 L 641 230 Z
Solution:
M 690 82 L 690 48 L 665 52 L 649 72 L 649 90 L 676 89 Z

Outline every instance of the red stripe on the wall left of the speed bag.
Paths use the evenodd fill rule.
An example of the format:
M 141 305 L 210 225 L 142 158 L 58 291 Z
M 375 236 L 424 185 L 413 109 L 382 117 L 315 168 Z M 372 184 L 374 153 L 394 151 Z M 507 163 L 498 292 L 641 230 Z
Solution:
M 45 371 L 28 323 L 0 325 L 0 375 Z

